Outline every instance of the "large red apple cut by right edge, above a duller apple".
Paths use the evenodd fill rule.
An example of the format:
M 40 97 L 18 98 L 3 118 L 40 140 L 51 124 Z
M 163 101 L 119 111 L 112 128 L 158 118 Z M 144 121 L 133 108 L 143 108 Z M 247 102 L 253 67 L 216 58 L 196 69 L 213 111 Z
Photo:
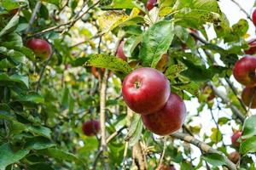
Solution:
M 247 87 L 256 86 L 256 57 L 247 55 L 236 61 L 233 75 L 237 82 Z

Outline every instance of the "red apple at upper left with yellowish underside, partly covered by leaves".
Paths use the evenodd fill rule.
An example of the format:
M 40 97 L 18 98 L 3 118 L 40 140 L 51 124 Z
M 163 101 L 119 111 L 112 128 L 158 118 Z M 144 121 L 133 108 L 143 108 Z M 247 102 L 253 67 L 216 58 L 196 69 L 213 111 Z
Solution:
M 32 38 L 28 40 L 26 46 L 31 48 L 36 57 L 42 61 L 48 59 L 52 53 L 49 43 L 43 39 Z

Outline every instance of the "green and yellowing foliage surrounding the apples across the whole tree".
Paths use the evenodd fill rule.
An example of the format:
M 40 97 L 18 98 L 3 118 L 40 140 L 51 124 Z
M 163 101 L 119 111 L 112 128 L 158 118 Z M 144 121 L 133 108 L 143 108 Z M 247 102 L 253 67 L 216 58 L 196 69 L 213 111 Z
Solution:
M 181 131 L 192 133 L 228 155 L 236 148 L 224 144 L 221 127 L 242 127 L 240 166 L 255 169 L 249 153 L 256 152 L 256 118 L 248 116 L 244 123 L 237 119 L 230 105 L 246 114 L 238 94 L 219 81 L 230 78 L 233 65 L 247 48 L 247 20 L 230 26 L 216 0 L 159 0 L 151 11 L 145 8 L 146 1 L 137 0 L 44 0 L 30 23 L 37 3 L 0 2 L 0 169 L 91 169 L 94 164 L 96 169 L 104 167 L 103 161 L 98 161 L 103 160 L 101 135 L 87 137 L 81 129 L 83 122 L 99 119 L 100 113 L 104 71 L 94 77 L 90 66 L 111 71 L 107 136 L 129 127 L 108 141 L 110 168 L 136 167 L 131 150 L 139 142 L 147 154 L 148 169 L 155 169 L 163 140 L 143 128 L 139 116 L 127 116 L 121 82 L 137 67 L 156 68 L 162 54 L 170 56 L 164 74 L 171 82 L 172 92 L 201 103 L 194 115 L 187 108 Z M 207 40 L 207 26 L 217 34 L 211 42 L 199 42 L 189 31 L 196 29 Z M 52 57 L 44 62 L 37 60 L 26 48 L 26 41 L 32 37 L 47 40 L 53 48 Z M 121 40 L 125 40 L 127 62 L 115 56 Z M 215 62 L 211 56 L 218 55 L 219 61 Z M 211 92 L 203 93 L 201 87 L 208 82 L 226 88 L 230 100 L 228 104 L 224 102 L 227 105 L 217 95 L 207 100 Z M 212 116 L 216 127 L 209 127 L 211 134 L 202 134 L 201 123 L 195 125 L 193 120 L 205 114 L 201 112 L 204 108 L 210 111 L 213 106 L 217 108 L 215 113 L 227 108 L 233 115 Z M 170 139 L 166 144 L 163 162 L 180 169 L 219 169 L 227 165 L 224 156 L 218 154 L 204 153 L 200 160 L 193 160 L 194 149 L 181 140 Z

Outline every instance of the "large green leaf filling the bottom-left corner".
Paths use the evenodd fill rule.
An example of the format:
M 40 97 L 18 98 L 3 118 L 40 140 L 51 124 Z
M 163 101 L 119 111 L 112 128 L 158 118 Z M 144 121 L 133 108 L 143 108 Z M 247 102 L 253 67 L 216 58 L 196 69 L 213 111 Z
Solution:
M 12 150 L 8 143 L 0 146 L 0 169 L 5 169 L 9 164 L 20 161 L 24 156 L 29 153 L 29 150 Z

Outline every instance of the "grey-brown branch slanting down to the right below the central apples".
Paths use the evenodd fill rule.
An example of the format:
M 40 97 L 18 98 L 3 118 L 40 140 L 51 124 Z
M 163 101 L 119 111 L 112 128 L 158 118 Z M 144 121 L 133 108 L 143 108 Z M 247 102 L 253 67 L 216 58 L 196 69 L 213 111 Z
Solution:
M 188 142 L 189 144 L 194 144 L 195 146 L 203 150 L 205 153 L 219 154 L 223 156 L 226 167 L 228 167 L 231 170 L 237 170 L 236 165 L 232 161 L 230 161 L 226 156 L 224 156 L 222 152 L 218 150 L 214 150 L 211 146 L 209 146 L 204 142 L 201 142 L 198 139 L 195 139 L 193 136 L 190 136 L 189 134 L 186 134 L 186 133 L 173 133 L 171 134 L 171 137 L 176 139 L 181 139 L 185 142 Z

